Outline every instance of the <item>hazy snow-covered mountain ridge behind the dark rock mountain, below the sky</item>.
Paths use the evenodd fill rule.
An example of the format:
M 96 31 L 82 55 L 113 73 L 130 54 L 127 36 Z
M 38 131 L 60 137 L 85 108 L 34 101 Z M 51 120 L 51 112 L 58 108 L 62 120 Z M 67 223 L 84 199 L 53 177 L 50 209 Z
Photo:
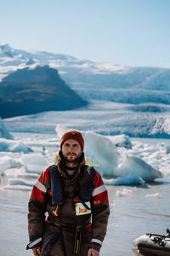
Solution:
M 37 65 L 56 68 L 66 84 L 85 100 L 170 104 L 169 68 L 124 67 L 0 44 L 0 79 L 17 69 Z

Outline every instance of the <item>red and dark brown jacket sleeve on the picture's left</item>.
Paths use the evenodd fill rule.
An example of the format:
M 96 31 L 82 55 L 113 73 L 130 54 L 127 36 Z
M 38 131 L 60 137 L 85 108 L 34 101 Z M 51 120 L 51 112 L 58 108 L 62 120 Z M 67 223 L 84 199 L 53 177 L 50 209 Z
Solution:
M 45 172 L 42 172 L 31 191 L 31 198 L 28 203 L 28 233 L 30 243 L 28 244 L 27 249 L 36 247 L 42 241 L 46 212 L 45 195 L 47 193 L 47 188 L 45 184 L 48 179 L 47 169 Z

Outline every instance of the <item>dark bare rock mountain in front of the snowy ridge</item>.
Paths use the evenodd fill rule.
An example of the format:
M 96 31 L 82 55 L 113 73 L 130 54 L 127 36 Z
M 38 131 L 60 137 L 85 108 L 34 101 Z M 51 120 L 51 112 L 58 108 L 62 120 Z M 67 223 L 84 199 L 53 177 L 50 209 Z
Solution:
M 70 110 L 87 104 L 65 84 L 56 69 L 48 66 L 19 69 L 0 83 L 2 118 L 50 110 Z

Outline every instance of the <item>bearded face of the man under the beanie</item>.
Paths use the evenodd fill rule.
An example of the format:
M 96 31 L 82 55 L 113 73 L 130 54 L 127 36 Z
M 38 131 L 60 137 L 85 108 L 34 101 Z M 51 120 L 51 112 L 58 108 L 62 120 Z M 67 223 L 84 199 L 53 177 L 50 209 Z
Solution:
M 63 143 L 61 150 L 65 157 L 65 161 L 69 163 L 77 162 L 77 159 L 82 153 L 80 143 L 74 139 L 66 140 L 65 143 Z

